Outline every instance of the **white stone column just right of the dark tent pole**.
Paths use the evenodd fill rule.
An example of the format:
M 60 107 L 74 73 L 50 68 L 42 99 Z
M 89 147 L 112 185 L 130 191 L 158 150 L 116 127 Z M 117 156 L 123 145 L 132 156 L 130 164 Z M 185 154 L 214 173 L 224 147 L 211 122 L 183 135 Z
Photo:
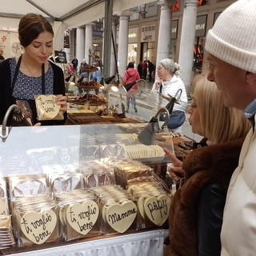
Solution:
M 118 14 L 119 33 L 118 33 L 118 73 L 123 76 L 127 66 L 128 56 L 128 33 L 130 10 Z

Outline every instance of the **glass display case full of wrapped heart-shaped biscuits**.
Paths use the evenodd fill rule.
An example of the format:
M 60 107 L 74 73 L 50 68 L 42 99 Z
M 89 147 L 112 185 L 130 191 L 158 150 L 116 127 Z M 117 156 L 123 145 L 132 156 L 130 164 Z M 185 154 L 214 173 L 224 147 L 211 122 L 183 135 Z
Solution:
M 0 205 L 2 211 L 0 214 L 11 216 L 11 222 L 8 218 L 4 218 L 4 221 L 13 225 L 14 237 L 18 242 L 14 242 L 10 227 L 3 226 L 4 230 L 10 230 L 8 234 L 10 238 L 9 247 L 7 246 L 6 249 L 0 235 L 2 252 L 27 255 L 33 248 L 32 250 L 37 250 L 38 255 L 48 255 L 54 251 L 58 255 L 72 255 L 76 252 L 82 255 L 98 255 L 100 251 L 103 252 L 108 248 L 112 252 L 111 255 L 118 255 L 118 251 L 130 248 L 122 255 L 130 255 L 134 252 L 148 255 L 160 254 L 159 252 L 163 250 L 163 240 L 168 235 L 168 230 L 164 227 L 168 222 L 170 195 L 166 192 L 168 190 L 163 191 L 159 188 L 161 182 L 159 183 L 155 178 L 152 171 L 154 169 L 150 166 L 166 165 L 170 160 L 166 158 L 163 147 L 174 150 L 175 144 L 184 142 L 188 138 L 182 134 L 170 133 L 168 130 L 161 130 L 156 134 L 145 133 L 148 125 L 148 123 L 107 123 L 82 126 L 12 127 L 8 137 L 0 141 L 1 178 L 7 181 L 6 187 L 8 187 L 6 194 L 1 194 L 2 202 L 0 200 L 0 203 L 3 210 Z M 138 139 L 142 134 L 146 136 L 146 140 Z M 148 136 L 152 137 L 150 144 L 142 144 L 144 141 L 149 141 Z M 133 161 L 140 162 L 142 165 L 135 164 Z M 105 168 L 99 163 L 107 165 L 110 175 L 99 172 L 100 169 Z M 132 168 L 128 165 L 130 163 Z M 111 168 L 112 164 L 116 169 Z M 121 167 L 120 164 L 122 164 Z M 88 172 L 85 175 L 78 170 L 92 170 L 93 175 Z M 125 171 L 128 173 L 125 174 Z M 89 183 L 86 184 L 84 181 Z M 135 186 L 141 181 L 153 181 L 154 186 L 144 183 L 147 190 L 142 190 L 142 186 Z M 127 191 L 122 191 L 125 188 L 127 190 L 127 187 L 129 190 L 127 186 L 129 184 L 130 191 L 134 194 L 134 191 L 138 190 L 136 197 L 134 194 L 131 196 Z M 92 196 L 81 192 L 85 188 L 91 192 L 94 191 L 90 190 L 91 187 L 105 185 L 110 187 L 108 191 L 104 188 L 103 194 L 107 192 L 114 194 L 115 197 L 119 194 L 118 203 L 109 201 L 109 194 L 104 198 L 102 194 L 96 196 L 94 193 Z M 25 190 L 23 190 L 24 186 Z M 116 186 L 120 187 L 117 189 Z M 0 187 L 3 189 L 5 186 L 0 184 Z M 66 199 L 66 194 L 60 196 L 54 193 L 59 188 L 61 192 L 81 189 L 74 194 L 77 201 L 74 202 L 74 198 Z M 37 196 L 40 194 L 38 191 L 42 192 L 39 197 L 34 198 L 34 191 Z M 29 196 L 26 197 L 25 194 Z M 48 194 L 48 197 L 42 199 L 42 194 Z M 145 197 L 145 194 L 148 195 Z M 3 207 L 5 200 L 10 210 Z M 56 202 L 58 202 L 57 205 Z M 31 208 L 32 205 L 33 208 Z M 82 206 L 95 210 L 82 210 Z M 62 212 L 66 215 L 61 214 Z M 94 217 L 94 223 L 91 220 L 88 221 L 89 212 L 90 218 L 97 214 Z M 75 220 L 82 215 L 88 220 L 85 222 Z M 67 220 L 68 218 L 70 220 Z M 111 222 L 120 221 L 121 225 L 112 226 L 113 223 L 110 223 L 107 218 Z M 0 224 L 1 221 L 3 217 L 0 218 Z M 129 221 L 130 224 L 127 225 Z M 50 222 L 54 222 L 54 227 L 49 226 Z M 58 222 L 60 225 L 56 224 Z M 65 222 L 69 222 L 70 230 L 65 230 Z M 78 224 L 79 228 L 74 224 Z M 91 227 L 88 228 L 90 225 Z M 41 231 L 38 231 L 40 229 Z M 146 248 L 145 243 L 148 245 Z M 91 245 L 98 248 L 98 254 Z M 67 252 L 60 249 L 62 246 Z M 149 251 L 148 248 L 151 250 Z

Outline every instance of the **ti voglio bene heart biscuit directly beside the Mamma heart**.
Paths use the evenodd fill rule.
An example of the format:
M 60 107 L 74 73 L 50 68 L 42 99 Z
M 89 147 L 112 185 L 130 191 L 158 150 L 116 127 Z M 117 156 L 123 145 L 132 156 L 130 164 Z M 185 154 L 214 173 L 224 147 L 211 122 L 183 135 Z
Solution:
M 74 203 L 66 209 L 66 221 L 79 234 L 87 234 L 98 219 L 98 204 L 92 200 Z

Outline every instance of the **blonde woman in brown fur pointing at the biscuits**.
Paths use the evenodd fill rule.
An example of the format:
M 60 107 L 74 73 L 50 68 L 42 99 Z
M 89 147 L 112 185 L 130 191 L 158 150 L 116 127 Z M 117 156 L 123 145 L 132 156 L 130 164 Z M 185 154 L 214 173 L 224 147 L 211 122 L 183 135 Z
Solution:
M 192 131 L 206 139 L 182 163 L 165 150 L 174 180 L 184 183 L 170 206 L 169 255 L 220 255 L 220 232 L 226 191 L 238 165 L 250 124 L 242 111 L 224 105 L 221 92 L 206 75 L 194 80 L 190 105 Z

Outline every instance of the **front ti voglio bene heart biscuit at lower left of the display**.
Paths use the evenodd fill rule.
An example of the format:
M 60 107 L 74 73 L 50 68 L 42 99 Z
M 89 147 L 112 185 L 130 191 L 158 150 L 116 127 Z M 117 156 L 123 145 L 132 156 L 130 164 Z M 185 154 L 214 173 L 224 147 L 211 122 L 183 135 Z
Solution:
M 30 211 L 23 214 L 20 221 L 22 233 L 26 238 L 41 245 L 53 233 L 57 224 L 57 216 L 53 210 L 42 210 L 40 213 Z

